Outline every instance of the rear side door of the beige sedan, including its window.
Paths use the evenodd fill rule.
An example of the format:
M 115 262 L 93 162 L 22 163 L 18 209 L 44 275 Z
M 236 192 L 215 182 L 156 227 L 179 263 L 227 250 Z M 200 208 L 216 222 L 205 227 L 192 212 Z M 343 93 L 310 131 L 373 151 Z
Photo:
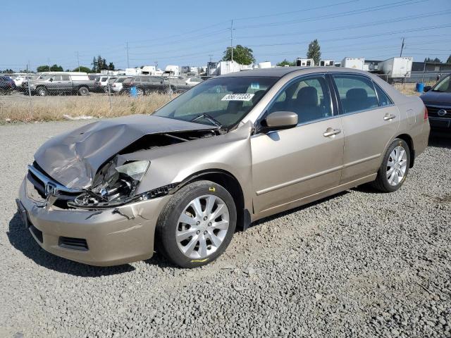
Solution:
M 393 101 L 366 75 L 332 75 L 345 134 L 341 184 L 377 172 L 390 139 L 400 125 Z

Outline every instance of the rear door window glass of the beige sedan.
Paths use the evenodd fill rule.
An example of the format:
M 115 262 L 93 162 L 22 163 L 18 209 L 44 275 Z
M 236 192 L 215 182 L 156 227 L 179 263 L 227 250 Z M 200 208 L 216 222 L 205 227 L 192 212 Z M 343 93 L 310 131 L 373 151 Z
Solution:
M 373 81 L 368 77 L 335 74 L 333 81 L 338 89 L 343 113 L 367 111 L 379 106 Z

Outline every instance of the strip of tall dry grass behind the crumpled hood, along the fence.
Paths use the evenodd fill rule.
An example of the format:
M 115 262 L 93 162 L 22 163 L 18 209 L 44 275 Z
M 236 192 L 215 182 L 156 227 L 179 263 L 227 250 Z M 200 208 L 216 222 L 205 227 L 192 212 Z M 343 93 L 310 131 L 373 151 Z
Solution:
M 4 99 L 5 98 L 5 99 Z M 168 95 L 150 94 L 133 98 L 130 96 L 0 96 L 0 123 L 63 120 L 71 117 L 92 116 L 113 118 L 116 116 L 153 113 L 169 101 Z

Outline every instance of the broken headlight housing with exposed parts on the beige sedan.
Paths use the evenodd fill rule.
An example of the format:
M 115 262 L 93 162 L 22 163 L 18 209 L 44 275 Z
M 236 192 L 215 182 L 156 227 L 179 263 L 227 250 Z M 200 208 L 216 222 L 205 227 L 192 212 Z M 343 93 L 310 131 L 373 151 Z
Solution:
M 93 188 L 81 194 L 68 205 L 75 207 L 111 207 L 134 199 L 135 190 L 149 168 L 149 161 L 132 161 L 116 166 L 112 161 L 94 178 Z

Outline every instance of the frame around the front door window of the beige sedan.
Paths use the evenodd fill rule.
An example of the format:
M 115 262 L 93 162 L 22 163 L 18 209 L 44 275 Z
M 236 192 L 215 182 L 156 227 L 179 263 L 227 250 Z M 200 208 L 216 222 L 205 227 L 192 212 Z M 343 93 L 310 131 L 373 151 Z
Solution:
M 333 102 L 333 94 L 332 94 L 333 89 L 330 87 L 330 83 L 328 81 L 328 74 L 327 73 L 304 74 L 304 75 L 299 75 L 297 77 L 293 77 L 291 80 L 289 80 L 287 83 L 285 83 L 282 88 L 280 88 L 278 90 L 278 92 L 273 96 L 271 101 L 269 101 L 268 104 L 266 105 L 266 107 L 263 109 L 259 118 L 257 118 L 257 120 L 255 121 L 254 125 L 257 127 L 257 130 L 259 129 L 259 125 L 261 125 L 261 121 L 263 121 L 264 118 L 266 118 L 266 116 L 268 115 L 269 108 L 271 108 L 271 106 L 273 106 L 273 104 L 276 102 L 276 99 L 278 98 L 278 96 L 280 94 L 282 94 L 285 91 L 285 89 L 290 87 L 290 85 L 292 85 L 294 82 L 302 81 L 302 80 L 309 80 L 309 78 L 314 78 L 314 77 L 323 77 L 326 82 L 326 89 L 328 89 L 328 95 L 329 95 L 329 100 L 330 100 L 330 110 L 332 112 L 332 115 L 328 116 L 326 118 L 318 119 L 318 120 L 312 120 L 312 121 L 308 121 L 308 122 L 304 122 L 304 123 L 302 123 L 302 122 L 297 123 L 296 127 L 299 127 L 300 125 L 309 125 L 311 123 L 316 123 L 319 121 L 329 120 L 330 118 L 338 117 L 340 114 L 339 114 L 339 111 L 337 110 L 337 107 L 335 106 L 335 104 Z

